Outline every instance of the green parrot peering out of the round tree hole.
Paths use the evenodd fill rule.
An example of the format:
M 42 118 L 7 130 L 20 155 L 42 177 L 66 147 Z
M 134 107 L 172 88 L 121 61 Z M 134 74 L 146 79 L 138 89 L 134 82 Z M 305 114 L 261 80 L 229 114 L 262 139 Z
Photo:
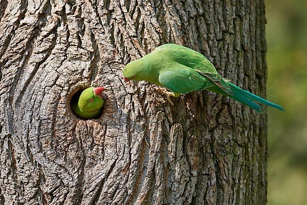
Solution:
M 82 119 L 97 118 L 101 113 L 107 95 L 103 87 L 90 87 L 82 91 L 79 99 L 72 100 L 73 112 Z

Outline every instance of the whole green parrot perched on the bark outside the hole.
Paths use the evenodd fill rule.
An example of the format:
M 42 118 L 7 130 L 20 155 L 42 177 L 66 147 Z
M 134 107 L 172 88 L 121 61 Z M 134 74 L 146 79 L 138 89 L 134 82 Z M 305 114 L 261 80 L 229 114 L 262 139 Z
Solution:
M 263 113 L 262 107 L 255 101 L 283 110 L 282 107 L 222 78 L 201 53 L 176 44 L 159 46 L 148 55 L 131 61 L 125 66 L 123 75 L 125 81 L 145 80 L 171 91 L 164 93 L 172 105 L 170 96 L 178 97 L 181 94 L 207 89 L 229 96 L 259 113 Z

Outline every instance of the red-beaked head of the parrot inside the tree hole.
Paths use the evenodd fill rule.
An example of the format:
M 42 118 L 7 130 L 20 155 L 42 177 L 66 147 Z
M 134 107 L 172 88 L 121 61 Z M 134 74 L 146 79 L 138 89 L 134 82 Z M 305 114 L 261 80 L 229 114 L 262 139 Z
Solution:
M 104 99 L 107 95 L 102 91 L 103 87 L 90 87 L 83 90 L 79 97 L 78 106 L 81 110 L 86 112 L 94 112 L 103 106 Z

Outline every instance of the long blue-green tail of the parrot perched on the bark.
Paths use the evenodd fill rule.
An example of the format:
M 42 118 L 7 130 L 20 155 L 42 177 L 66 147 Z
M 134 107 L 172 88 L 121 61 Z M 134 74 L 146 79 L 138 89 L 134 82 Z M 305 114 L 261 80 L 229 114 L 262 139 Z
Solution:
M 248 92 L 247 90 L 243 90 L 242 88 L 239 88 L 232 83 L 227 82 L 227 84 L 229 85 L 231 91 L 233 92 L 232 95 L 229 95 L 224 91 L 222 91 L 222 93 L 221 93 L 222 89 L 220 89 L 218 87 L 212 87 L 212 89 L 210 88 L 208 90 L 211 90 L 211 91 L 217 92 L 217 93 L 221 93 L 221 94 L 224 94 L 224 95 L 226 94 L 227 96 L 239 101 L 240 103 L 243 103 L 243 104 L 251 107 L 252 109 L 254 109 L 255 111 L 257 111 L 259 113 L 263 113 L 262 107 L 259 106 L 258 104 L 256 104 L 254 101 L 283 111 L 283 108 L 279 105 L 271 103 L 270 101 L 268 101 L 264 98 L 261 98 L 261 97 L 255 95 L 255 94 L 253 94 L 253 93 Z

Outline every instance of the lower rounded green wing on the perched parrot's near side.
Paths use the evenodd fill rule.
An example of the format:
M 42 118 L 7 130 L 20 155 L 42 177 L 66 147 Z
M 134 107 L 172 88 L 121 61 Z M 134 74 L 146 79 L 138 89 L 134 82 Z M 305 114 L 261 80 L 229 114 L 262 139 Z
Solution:
M 184 65 L 177 64 L 159 74 L 159 82 L 176 93 L 189 93 L 215 86 L 209 78 Z

